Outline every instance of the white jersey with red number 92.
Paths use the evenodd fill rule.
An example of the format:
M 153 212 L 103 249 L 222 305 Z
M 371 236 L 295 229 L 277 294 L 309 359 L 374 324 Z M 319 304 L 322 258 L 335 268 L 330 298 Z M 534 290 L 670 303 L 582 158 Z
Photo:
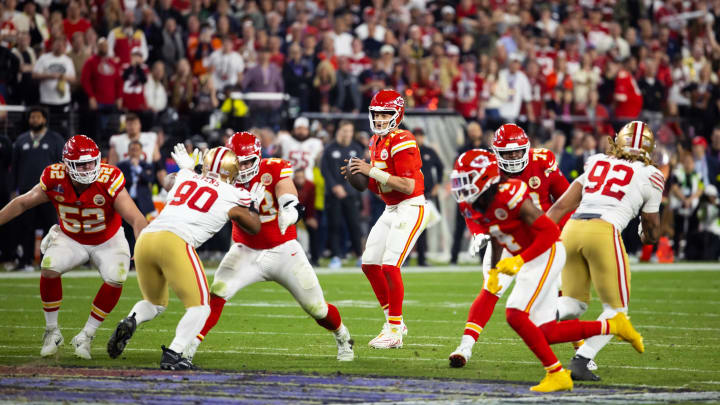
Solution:
M 583 186 L 578 214 L 600 218 L 622 231 L 640 210 L 658 212 L 665 177 L 655 166 L 605 154 L 591 156 L 575 181 Z

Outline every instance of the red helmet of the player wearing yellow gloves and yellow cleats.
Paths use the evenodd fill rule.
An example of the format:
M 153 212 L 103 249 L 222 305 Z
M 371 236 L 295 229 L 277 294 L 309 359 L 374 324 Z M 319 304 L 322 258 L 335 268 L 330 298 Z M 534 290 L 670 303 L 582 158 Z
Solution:
M 453 198 L 468 204 L 499 181 L 500 169 L 495 155 L 484 149 L 471 149 L 460 155 L 450 174 Z

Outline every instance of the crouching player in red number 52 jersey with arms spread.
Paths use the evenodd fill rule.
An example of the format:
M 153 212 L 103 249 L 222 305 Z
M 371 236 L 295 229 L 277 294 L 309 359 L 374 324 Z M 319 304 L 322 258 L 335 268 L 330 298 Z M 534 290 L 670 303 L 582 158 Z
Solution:
M 93 300 L 85 327 L 72 340 L 75 355 L 90 359 L 95 331 L 113 310 L 130 270 L 130 248 L 121 218 L 135 236 L 147 225 L 130 195 L 125 178 L 115 166 L 100 163 L 100 150 L 85 135 L 70 138 L 63 163 L 45 168 L 40 183 L 0 210 L 3 225 L 36 205 L 51 202 L 60 225 L 54 225 L 40 246 L 43 253 L 40 299 L 45 311 L 45 335 L 40 355 L 51 356 L 64 342 L 58 326 L 65 272 L 91 260 L 104 283 Z

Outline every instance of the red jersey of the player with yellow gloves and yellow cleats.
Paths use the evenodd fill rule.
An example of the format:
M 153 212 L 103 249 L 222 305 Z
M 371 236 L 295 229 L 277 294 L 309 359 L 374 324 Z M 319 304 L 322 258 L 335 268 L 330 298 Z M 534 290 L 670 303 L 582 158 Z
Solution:
M 520 218 L 520 206 L 530 198 L 528 189 L 520 179 L 505 180 L 484 213 L 467 203 L 460 203 L 460 212 L 471 232 L 490 234 L 513 255 L 521 254 L 535 240 L 530 225 Z

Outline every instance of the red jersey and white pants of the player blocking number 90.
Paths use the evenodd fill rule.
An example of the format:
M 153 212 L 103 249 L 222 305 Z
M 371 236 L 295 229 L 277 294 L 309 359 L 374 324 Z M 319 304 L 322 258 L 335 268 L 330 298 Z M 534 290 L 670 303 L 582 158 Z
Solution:
M 328 306 L 320 282 L 296 240 L 295 225 L 285 234 L 278 225 L 277 183 L 290 179 L 292 165 L 282 159 L 262 159 L 258 174 L 243 187 L 251 189 L 261 182 L 265 186 L 265 199 L 260 205 L 262 227 L 257 235 L 249 235 L 233 224 L 235 244 L 220 262 L 210 291 L 229 300 L 238 291 L 260 281 L 275 281 L 295 297 L 302 308 L 315 319 L 327 315 Z

